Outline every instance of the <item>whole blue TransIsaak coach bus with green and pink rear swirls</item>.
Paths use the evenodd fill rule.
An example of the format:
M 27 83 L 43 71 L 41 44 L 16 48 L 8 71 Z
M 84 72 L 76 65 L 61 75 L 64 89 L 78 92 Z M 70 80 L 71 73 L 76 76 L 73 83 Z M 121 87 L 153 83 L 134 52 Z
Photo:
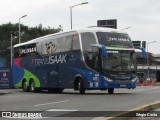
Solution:
M 145 50 L 142 53 L 145 58 Z M 23 91 L 65 88 L 108 90 L 136 87 L 135 47 L 127 33 L 85 28 L 36 38 L 14 46 L 13 83 Z

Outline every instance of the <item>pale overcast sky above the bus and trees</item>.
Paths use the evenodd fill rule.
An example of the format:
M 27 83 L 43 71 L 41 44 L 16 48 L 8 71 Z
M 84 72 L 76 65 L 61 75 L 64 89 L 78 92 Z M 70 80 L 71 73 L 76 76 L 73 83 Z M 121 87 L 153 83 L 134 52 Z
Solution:
M 21 23 L 29 27 L 73 29 L 96 26 L 97 20 L 117 19 L 118 29 L 126 29 L 133 41 L 146 41 L 148 51 L 160 54 L 160 0 L 0 0 L 0 24 Z M 154 43 L 151 43 L 156 41 Z

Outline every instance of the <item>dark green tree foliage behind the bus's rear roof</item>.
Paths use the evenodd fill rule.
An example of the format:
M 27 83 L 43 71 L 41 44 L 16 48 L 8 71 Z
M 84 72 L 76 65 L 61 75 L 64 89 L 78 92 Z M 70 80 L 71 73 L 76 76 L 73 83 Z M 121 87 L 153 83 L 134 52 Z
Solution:
M 51 27 L 43 28 L 42 24 L 39 24 L 36 27 L 28 27 L 21 24 L 21 43 L 60 31 L 62 31 L 61 26 L 55 29 Z M 0 25 L 0 56 L 7 57 L 7 60 L 10 58 L 11 32 L 13 35 L 13 45 L 18 44 L 19 24 L 12 24 L 9 22 Z

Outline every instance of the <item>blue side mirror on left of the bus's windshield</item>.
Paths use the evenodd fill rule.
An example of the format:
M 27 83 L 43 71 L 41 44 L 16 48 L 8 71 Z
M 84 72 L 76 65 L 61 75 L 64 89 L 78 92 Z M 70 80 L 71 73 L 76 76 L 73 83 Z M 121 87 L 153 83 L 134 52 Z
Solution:
M 91 44 L 91 46 L 93 47 L 97 47 L 101 50 L 101 55 L 103 59 L 106 59 L 107 57 L 107 48 L 105 45 L 101 45 L 101 44 Z

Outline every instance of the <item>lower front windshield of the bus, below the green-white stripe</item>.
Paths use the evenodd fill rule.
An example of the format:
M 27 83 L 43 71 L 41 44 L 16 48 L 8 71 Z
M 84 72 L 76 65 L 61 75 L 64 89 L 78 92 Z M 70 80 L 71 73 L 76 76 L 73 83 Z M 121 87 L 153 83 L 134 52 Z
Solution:
M 102 61 L 102 69 L 108 72 L 136 72 L 134 51 L 108 50 L 107 58 Z

